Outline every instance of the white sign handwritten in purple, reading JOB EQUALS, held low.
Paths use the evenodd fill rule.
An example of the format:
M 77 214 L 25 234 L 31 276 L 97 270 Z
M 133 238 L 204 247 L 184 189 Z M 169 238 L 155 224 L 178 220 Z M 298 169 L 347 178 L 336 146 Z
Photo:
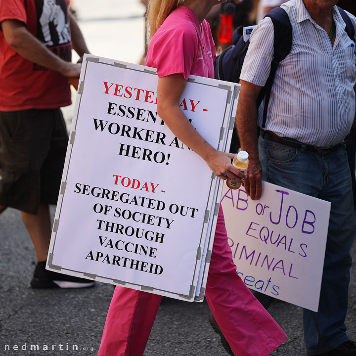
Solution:
M 224 186 L 222 206 L 236 272 L 268 296 L 318 310 L 329 202 L 263 182 L 260 200 Z

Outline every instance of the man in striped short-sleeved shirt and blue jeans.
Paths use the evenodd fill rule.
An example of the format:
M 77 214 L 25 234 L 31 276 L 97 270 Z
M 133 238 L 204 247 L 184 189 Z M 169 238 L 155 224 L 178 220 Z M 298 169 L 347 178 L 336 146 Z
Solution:
M 356 58 L 337 2 L 281 5 L 291 21 L 293 45 L 276 71 L 259 137 L 263 104 L 256 109 L 256 100 L 270 71 L 274 32 L 269 17 L 258 24 L 240 76 L 236 124 L 241 148 L 250 154 L 244 185 L 252 199 L 261 197 L 263 179 L 331 202 L 319 311 L 304 310 L 305 344 L 308 355 L 355 356 L 345 326 L 355 214 L 342 142 L 355 119 Z M 261 298 L 266 307 L 268 299 Z

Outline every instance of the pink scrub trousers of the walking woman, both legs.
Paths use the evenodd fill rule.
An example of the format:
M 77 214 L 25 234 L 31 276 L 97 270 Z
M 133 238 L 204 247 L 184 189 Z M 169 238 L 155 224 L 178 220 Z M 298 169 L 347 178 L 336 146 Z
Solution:
M 205 292 L 236 356 L 267 356 L 287 335 L 236 274 L 220 207 Z M 142 356 L 162 296 L 116 287 L 98 356 Z

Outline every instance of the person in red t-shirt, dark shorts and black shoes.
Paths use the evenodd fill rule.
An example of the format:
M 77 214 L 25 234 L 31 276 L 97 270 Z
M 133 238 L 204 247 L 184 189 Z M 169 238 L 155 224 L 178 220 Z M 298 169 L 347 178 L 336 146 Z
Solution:
M 0 213 L 21 211 L 38 264 L 33 288 L 88 287 L 92 281 L 45 269 L 68 143 L 60 111 L 70 105 L 69 78 L 89 53 L 69 0 L 0 0 Z

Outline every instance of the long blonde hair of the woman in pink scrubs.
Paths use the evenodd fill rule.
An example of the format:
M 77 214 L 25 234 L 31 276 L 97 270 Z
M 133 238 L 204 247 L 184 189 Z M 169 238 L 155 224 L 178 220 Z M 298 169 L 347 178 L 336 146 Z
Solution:
M 189 0 L 149 0 L 146 16 L 146 34 L 150 41 L 168 15 Z

